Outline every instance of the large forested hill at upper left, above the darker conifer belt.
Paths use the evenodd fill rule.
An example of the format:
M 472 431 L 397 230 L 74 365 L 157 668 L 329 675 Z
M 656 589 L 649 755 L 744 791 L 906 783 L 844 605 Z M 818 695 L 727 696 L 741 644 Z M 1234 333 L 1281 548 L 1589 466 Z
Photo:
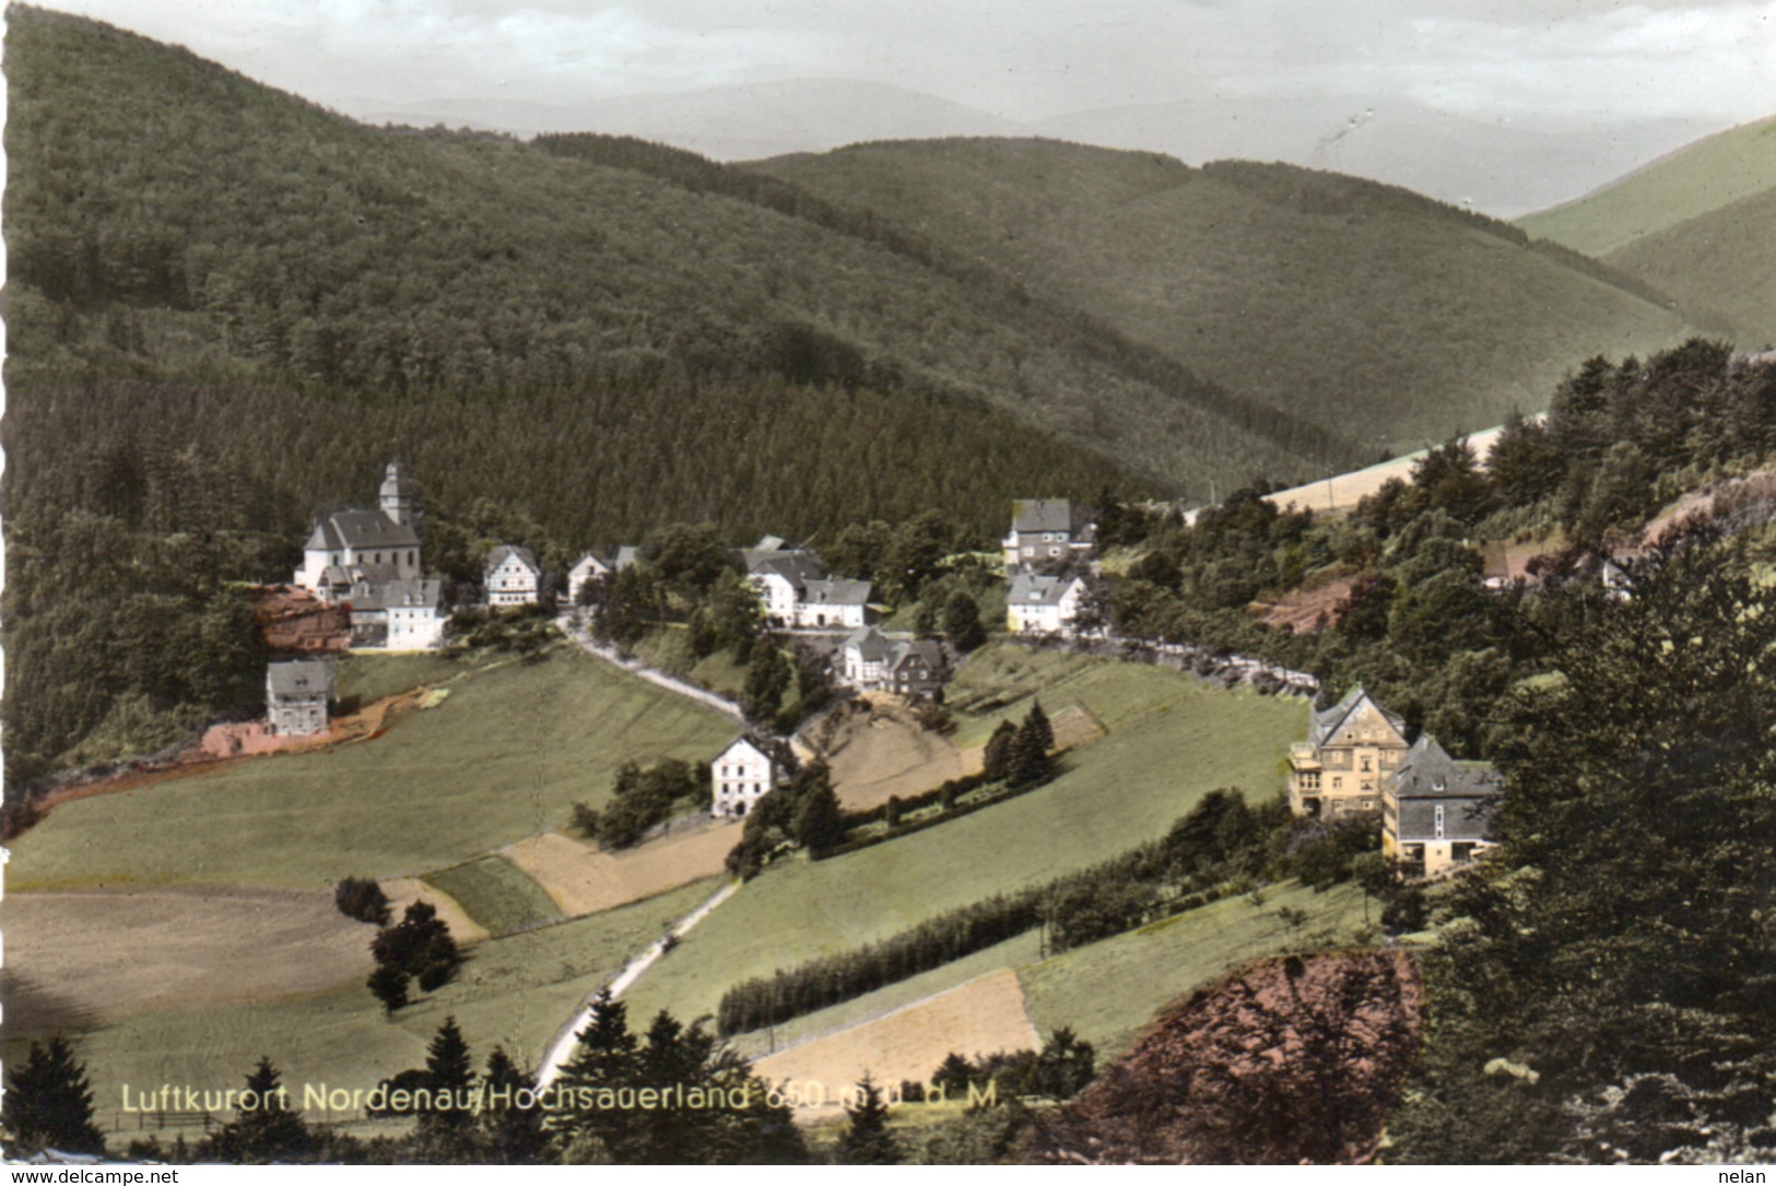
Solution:
M 1359 456 L 1003 282 L 634 169 L 364 128 L 181 50 L 11 12 L 14 385 L 645 401 L 705 383 L 700 408 L 725 415 L 723 383 L 767 378 L 984 407 L 980 447 L 1041 451 L 1009 417 L 1170 488 Z

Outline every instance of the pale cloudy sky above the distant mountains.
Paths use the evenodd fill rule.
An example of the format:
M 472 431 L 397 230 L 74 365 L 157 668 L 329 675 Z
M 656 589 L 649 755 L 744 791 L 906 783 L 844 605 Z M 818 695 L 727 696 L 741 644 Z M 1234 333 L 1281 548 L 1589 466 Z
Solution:
M 790 78 L 1018 121 L 1209 96 L 1403 96 L 1497 123 L 1776 112 L 1776 0 L 50 0 L 348 114 Z

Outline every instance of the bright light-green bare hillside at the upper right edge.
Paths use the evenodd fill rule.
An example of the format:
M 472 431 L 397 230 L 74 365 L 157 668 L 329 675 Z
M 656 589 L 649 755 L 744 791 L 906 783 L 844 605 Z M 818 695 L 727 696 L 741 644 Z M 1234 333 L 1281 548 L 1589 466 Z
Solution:
M 1613 252 L 1776 188 L 1776 119 L 1698 140 L 1639 172 L 1517 225 L 1588 256 Z

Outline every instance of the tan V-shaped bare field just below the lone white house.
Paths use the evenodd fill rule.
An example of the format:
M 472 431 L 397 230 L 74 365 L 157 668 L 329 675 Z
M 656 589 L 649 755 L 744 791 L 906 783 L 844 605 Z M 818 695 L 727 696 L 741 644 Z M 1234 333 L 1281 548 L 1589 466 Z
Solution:
M 504 854 L 563 914 L 579 918 L 714 877 L 739 840 L 739 820 L 700 820 L 623 852 L 600 852 L 561 833 L 545 833 Z

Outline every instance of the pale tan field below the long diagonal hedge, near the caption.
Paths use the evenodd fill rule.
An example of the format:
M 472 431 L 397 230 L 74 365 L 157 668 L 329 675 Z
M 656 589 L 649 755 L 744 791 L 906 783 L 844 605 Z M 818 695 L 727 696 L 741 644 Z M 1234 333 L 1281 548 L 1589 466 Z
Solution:
M 797 1120 L 817 1120 L 838 1108 L 842 1092 L 865 1071 L 884 1087 L 902 1079 L 927 1083 L 950 1051 L 979 1058 L 1039 1046 L 1023 1007 L 1018 973 L 1003 968 L 892 1014 L 767 1055 L 753 1069 L 767 1083 L 789 1079 L 803 1099 L 810 1092 L 824 1092 L 831 1101 L 826 1108 L 797 1115 Z

